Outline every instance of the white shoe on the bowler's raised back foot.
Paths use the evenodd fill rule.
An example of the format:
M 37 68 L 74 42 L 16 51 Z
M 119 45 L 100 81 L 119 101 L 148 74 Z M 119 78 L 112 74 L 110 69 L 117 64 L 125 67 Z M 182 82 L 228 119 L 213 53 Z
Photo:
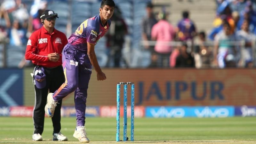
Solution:
M 49 93 L 47 95 L 47 103 L 44 107 L 44 110 L 45 110 L 45 113 L 47 116 L 49 117 L 52 117 L 53 116 L 53 113 L 54 113 L 54 110 L 55 110 L 55 107 L 57 105 L 57 101 L 54 101 L 53 100 L 53 97 L 52 97 L 53 93 Z

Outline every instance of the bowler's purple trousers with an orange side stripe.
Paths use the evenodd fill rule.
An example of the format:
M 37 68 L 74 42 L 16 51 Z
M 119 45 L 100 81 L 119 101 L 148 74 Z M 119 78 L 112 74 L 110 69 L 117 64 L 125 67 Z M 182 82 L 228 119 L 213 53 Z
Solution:
M 67 44 L 62 52 L 62 66 L 65 83 L 54 92 L 53 100 L 59 101 L 75 91 L 76 126 L 84 126 L 86 98 L 92 64 L 87 51 L 81 51 Z

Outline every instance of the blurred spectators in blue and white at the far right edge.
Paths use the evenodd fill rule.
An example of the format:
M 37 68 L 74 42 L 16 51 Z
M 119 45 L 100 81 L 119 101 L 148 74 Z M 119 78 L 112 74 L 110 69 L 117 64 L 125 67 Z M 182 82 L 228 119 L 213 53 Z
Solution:
M 214 64 L 225 67 L 254 67 L 256 2 L 217 0 L 218 8 L 209 39 L 215 42 Z M 228 43 L 228 41 L 243 43 Z

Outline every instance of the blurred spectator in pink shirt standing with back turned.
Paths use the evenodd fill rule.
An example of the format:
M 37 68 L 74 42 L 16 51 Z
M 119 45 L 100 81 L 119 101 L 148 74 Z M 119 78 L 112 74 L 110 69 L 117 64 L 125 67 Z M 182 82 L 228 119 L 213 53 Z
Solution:
M 167 13 L 159 13 L 159 21 L 151 31 L 152 40 L 156 40 L 154 50 L 158 53 L 158 67 L 169 67 L 169 56 L 172 46 L 169 44 L 175 37 L 175 28 L 166 20 Z

